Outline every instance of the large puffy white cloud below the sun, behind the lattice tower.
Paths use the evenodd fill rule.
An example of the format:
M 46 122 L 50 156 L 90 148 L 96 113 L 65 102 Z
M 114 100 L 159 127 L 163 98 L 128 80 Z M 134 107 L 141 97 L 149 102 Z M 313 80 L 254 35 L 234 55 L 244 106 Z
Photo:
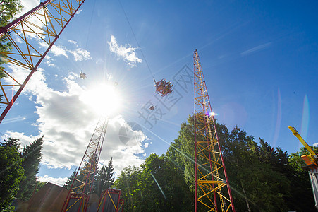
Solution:
M 13 72 L 20 72 L 22 78 L 26 73 L 22 69 Z M 63 79 L 67 86 L 63 92 L 49 88 L 45 80 L 44 71 L 39 69 L 23 90 L 23 94 L 31 95 L 37 104 L 35 113 L 39 118 L 35 126 L 38 134 L 26 136 L 18 131 L 6 131 L 6 136 L 20 139 L 25 145 L 43 135 L 42 165 L 50 168 L 78 166 L 99 116 L 82 102 L 80 95 L 85 90 L 76 83 L 78 76 L 75 73 L 69 73 Z M 119 136 L 122 127 L 127 129 L 128 141 Z M 113 157 L 114 170 L 118 173 L 128 165 L 140 165 L 144 160 L 137 155 L 145 153 L 145 139 L 145 134 L 131 129 L 123 117 L 113 117 L 109 120 L 99 161 L 106 164 Z

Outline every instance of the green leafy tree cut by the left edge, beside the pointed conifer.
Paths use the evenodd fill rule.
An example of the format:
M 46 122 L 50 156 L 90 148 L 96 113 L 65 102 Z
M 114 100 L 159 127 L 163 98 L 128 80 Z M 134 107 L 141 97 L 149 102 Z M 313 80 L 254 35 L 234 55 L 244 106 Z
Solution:
M 23 179 L 23 167 L 16 139 L 0 143 L 0 211 L 13 211 L 11 203 Z

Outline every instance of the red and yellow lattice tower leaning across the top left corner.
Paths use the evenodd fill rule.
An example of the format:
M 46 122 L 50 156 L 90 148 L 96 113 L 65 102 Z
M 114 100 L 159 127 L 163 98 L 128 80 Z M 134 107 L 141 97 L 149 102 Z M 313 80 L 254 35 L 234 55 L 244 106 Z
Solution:
M 6 74 L 0 81 L 0 104 L 6 105 L 0 123 L 83 3 L 84 0 L 47 0 L 0 28 L 0 42 L 12 46 L 11 52 L 0 50 L 0 59 L 6 62 L 0 66 Z

